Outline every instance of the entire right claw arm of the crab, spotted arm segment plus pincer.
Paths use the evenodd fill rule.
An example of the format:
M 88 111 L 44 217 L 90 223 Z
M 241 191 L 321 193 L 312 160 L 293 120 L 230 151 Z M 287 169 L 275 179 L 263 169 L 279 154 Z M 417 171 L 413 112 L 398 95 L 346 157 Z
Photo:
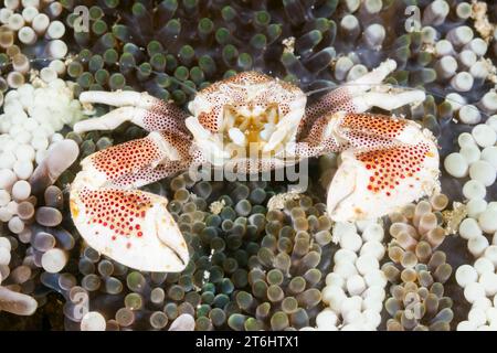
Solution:
M 328 191 L 335 221 L 391 213 L 438 188 L 438 152 L 429 130 L 381 115 L 337 113 L 321 138 L 343 149 Z

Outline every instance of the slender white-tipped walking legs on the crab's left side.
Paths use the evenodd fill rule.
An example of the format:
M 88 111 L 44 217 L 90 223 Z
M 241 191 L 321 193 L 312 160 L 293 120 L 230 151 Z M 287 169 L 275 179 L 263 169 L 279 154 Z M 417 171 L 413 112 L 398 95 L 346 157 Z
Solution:
M 184 119 L 188 115 L 175 106 L 147 93 L 89 90 L 80 95 L 83 104 L 97 103 L 119 108 L 93 119 L 78 121 L 74 131 L 112 130 L 125 121 L 136 124 L 147 131 L 175 130 L 188 133 Z

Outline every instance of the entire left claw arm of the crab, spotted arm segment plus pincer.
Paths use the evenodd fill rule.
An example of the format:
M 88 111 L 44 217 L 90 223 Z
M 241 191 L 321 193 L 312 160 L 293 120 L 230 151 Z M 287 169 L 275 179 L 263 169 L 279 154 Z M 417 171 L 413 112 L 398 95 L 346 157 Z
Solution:
M 151 132 L 88 156 L 71 185 L 71 212 L 83 238 L 97 252 L 139 270 L 180 271 L 187 244 L 167 210 L 167 199 L 134 188 L 188 168 L 191 140 Z

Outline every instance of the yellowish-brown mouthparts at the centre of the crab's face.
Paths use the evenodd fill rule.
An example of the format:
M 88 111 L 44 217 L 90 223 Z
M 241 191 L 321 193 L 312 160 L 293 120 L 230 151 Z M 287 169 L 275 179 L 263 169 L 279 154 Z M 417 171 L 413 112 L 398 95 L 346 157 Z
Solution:
M 267 107 L 225 105 L 221 132 L 223 142 L 244 148 L 247 153 L 265 151 L 279 122 L 277 104 Z

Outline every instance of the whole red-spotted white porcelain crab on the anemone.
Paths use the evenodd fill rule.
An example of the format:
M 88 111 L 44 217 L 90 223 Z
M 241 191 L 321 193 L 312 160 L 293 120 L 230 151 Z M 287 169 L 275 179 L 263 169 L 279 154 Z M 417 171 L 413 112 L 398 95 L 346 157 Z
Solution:
M 126 266 L 181 271 L 189 252 L 167 199 L 137 188 L 191 165 L 231 163 L 253 173 L 340 152 L 327 200 L 334 221 L 380 217 L 430 195 L 438 183 L 430 131 L 400 117 L 366 113 L 424 100 L 422 90 L 380 85 L 394 69 L 388 60 L 310 106 L 297 86 L 256 72 L 200 90 L 188 106 L 191 115 L 146 93 L 82 93 L 84 104 L 118 108 L 77 122 L 76 132 L 131 121 L 150 133 L 82 161 L 71 185 L 75 225 L 89 246 Z

